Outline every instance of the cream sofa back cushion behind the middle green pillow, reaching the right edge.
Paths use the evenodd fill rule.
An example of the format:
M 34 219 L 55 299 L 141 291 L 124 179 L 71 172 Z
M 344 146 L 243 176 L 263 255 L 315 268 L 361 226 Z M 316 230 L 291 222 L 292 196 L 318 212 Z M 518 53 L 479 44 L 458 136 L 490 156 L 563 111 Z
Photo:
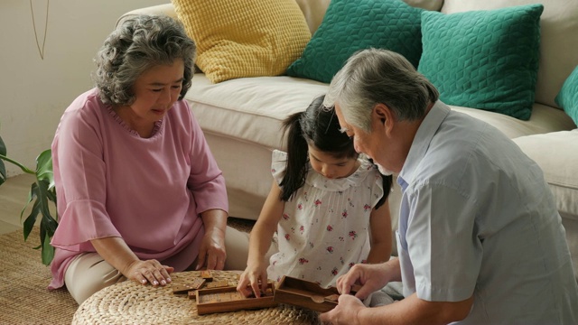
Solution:
M 564 79 L 578 65 L 578 1 L 568 0 L 445 0 L 442 13 L 489 10 L 513 5 L 544 5 L 541 16 L 540 67 L 536 102 L 555 107 Z

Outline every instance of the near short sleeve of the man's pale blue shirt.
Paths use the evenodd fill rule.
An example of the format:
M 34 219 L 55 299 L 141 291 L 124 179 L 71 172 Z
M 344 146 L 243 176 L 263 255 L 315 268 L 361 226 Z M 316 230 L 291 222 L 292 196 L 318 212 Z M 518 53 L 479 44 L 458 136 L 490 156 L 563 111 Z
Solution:
M 408 194 L 406 241 L 417 296 L 433 302 L 470 298 L 483 253 L 474 231 L 474 201 L 442 184 L 424 184 Z

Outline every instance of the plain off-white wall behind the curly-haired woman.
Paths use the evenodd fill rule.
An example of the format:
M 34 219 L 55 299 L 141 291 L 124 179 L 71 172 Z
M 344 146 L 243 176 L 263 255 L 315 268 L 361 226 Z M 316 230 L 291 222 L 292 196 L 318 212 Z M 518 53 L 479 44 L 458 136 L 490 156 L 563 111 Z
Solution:
M 117 18 L 136 8 L 168 3 L 0 0 L 0 136 L 8 156 L 33 169 L 36 156 L 50 148 L 61 113 L 92 87 L 92 59 Z M 43 60 L 33 16 L 41 50 L 46 32 Z M 8 176 L 22 173 L 10 163 L 6 169 Z

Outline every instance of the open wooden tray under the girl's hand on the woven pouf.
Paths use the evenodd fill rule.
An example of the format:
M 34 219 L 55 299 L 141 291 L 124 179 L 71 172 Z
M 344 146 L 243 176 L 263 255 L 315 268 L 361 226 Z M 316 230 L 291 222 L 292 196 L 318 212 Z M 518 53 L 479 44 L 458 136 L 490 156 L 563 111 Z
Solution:
M 204 315 L 213 312 L 242 311 L 275 307 L 275 285 L 267 283 L 267 290 L 261 297 L 245 297 L 236 286 L 211 289 L 199 289 L 197 294 L 197 313 Z

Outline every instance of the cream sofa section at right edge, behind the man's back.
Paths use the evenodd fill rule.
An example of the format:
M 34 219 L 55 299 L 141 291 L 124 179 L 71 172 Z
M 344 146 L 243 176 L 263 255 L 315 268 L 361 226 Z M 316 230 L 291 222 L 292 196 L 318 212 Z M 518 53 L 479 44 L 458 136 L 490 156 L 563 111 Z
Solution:
M 514 142 L 544 171 L 558 210 L 578 220 L 578 129 L 522 136 Z

